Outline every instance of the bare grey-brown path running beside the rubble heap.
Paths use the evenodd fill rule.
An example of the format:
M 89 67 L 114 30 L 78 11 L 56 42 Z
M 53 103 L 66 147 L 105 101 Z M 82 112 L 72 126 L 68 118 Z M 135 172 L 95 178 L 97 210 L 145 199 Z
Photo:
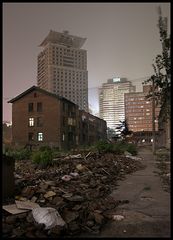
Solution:
M 163 190 L 156 174 L 151 150 L 141 149 L 139 156 L 146 168 L 119 181 L 118 189 L 111 194 L 116 200 L 129 200 L 116 210 L 124 219 L 109 222 L 95 237 L 170 237 L 170 194 Z

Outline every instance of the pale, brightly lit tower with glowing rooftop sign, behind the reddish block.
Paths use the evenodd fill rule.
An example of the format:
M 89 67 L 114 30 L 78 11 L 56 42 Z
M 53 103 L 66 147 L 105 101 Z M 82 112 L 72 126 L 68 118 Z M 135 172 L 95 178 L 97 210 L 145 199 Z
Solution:
M 113 130 L 125 120 L 124 94 L 135 92 L 135 86 L 126 78 L 108 79 L 99 89 L 100 118 Z

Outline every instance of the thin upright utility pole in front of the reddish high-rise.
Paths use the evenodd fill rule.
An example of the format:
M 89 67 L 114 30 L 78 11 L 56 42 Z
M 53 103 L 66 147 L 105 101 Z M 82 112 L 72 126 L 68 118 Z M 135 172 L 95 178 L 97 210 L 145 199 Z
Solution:
M 154 89 L 154 77 L 152 79 L 152 152 L 155 154 L 156 151 L 156 131 L 155 131 L 155 89 Z

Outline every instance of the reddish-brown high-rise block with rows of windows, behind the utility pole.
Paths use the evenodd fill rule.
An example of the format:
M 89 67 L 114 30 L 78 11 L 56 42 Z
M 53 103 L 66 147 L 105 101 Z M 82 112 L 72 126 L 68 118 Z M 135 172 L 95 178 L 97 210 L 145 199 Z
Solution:
M 129 130 L 133 132 L 152 131 L 152 101 L 146 96 L 151 86 L 143 86 L 143 92 L 134 92 L 125 94 L 125 115 Z M 155 108 L 155 130 L 158 130 L 158 116 L 160 108 Z

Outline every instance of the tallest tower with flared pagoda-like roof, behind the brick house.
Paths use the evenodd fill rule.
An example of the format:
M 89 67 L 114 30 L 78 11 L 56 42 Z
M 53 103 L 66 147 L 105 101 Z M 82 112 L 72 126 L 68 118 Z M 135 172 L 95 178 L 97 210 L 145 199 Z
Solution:
M 40 44 L 37 85 L 74 102 L 88 111 L 87 51 L 81 49 L 86 38 L 50 31 Z

